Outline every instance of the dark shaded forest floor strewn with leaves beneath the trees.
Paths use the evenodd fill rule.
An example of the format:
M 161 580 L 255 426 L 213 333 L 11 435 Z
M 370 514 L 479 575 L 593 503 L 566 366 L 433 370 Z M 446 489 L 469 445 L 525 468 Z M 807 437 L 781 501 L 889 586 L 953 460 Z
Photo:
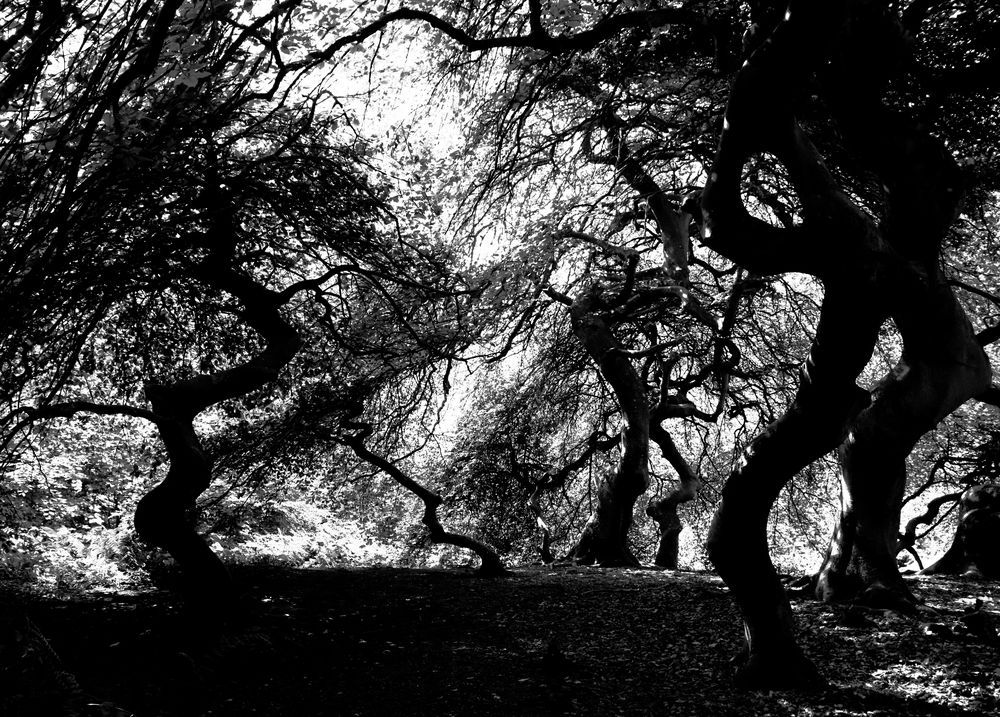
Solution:
M 928 608 L 918 618 L 795 600 L 802 644 L 829 687 L 748 692 L 733 687 L 729 663 L 742 630 L 710 574 L 268 568 L 237 577 L 241 615 L 207 626 L 192 626 L 162 591 L 22 600 L 22 624 L 44 635 L 61 675 L 3 664 L 8 625 L 0 714 L 1000 713 L 996 583 L 910 578 Z

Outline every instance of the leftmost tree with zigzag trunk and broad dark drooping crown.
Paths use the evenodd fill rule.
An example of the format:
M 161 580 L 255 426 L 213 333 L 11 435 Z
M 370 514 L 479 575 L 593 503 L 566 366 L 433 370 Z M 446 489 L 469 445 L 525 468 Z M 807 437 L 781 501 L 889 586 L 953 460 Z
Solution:
M 339 262 L 371 245 L 382 209 L 356 155 L 331 143 L 315 100 L 294 108 L 267 102 L 287 71 L 269 68 L 266 56 L 247 64 L 248 35 L 228 25 L 231 10 L 167 3 L 139 12 L 113 38 L 101 33 L 114 17 L 95 22 L 102 42 L 52 67 L 51 86 L 37 89 L 67 109 L 19 127 L 15 149 L 39 165 L 6 208 L 16 218 L 6 248 L 23 267 L 8 286 L 23 301 L 6 358 L 23 357 L 17 344 L 25 336 L 28 348 L 53 332 L 66 337 L 14 375 L 7 442 L 33 421 L 78 411 L 154 422 L 170 470 L 139 502 L 136 529 L 173 555 L 192 596 L 205 600 L 230 586 L 187 515 L 211 481 L 195 419 L 275 381 L 301 346 L 290 310 L 302 312 L 301 294 L 353 271 Z M 139 37 L 144 20 L 151 32 L 136 40 L 137 59 L 108 69 L 125 52 L 119 41 Z M 74 95 L 79 66 L 91 62 L 107 72 Z M 271 77 L 255 76 L 264 70 Z M 46 146 L 54 159 L 41 158 L 38 136 L 51 138 L 43 146 L 54 146 Z M 56 217 L 62 222 L 49 232 Z M 50 308 L 64 313 L 53 320 Z M 131 387 L 144 382 L 150 409 L 127 389 L 112 403 L 61 395 L 87 342 L 110 333 L 109 321 L 118 324 L 117 355 L 90 356 L 124 359 L 107 373 Z M 131 353 L 122 350 L 129 339 Z

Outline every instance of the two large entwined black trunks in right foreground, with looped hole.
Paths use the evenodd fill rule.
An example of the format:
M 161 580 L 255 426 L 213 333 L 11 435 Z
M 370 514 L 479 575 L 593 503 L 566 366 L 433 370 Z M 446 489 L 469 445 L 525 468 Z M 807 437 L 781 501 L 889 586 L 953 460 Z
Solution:
M 751 271 L 813 274 L 826 289 L 795 400 L 747 449 L 709 535 L 710 557 L 746 626 L 738 677 L 752 686 L 818 678 L 795 642 L 788 600 L 768 554 L 767 516 L 781 487 L 843 444 L 843 509 L 818 593 L 905 604 L 909 595 L 893 559 L 904 460 L 923 433 L 989 386 L 986 356 L 938 268 L 959 194 L 955 173 L 947 171 L 950 158 L 919 128 L 890 126 L 881 111 L 889 65 L 903 46 L 896 41 L 900 32 L 881 3 L 789 3 L 737 75 L 702 198 L 703 235 L 712 248 Z M 826 86 L 831 104 L 854 103 L 838 120 L 855 146 L 869 152 L 864 156 L 885 183 L 881 225 L 840 190 L 795 119 L 794 97 L 835 38 L 843 45 Z M 862 52 L 859 67 L 854 62 Z M 860 77 L 873 79 L 859 90 L 859 75 L 849 73 L 862 67 Z M 872 113 L 877 121 L 869 132 Z M 744 207 L 742 168 L 761 152 L 788 171 L 802 202 L 801 225 L 779 229 Z M 855 379 L 889 317 L 902 335 L 903 355 L 869 396 Z

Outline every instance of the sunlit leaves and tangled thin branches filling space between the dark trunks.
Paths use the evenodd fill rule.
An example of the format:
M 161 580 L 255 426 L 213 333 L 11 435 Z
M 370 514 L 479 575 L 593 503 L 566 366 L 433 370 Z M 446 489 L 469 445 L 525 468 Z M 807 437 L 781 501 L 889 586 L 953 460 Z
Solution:
M 115 584 L 155 557 L 128 533 L 136 501 L 165 468 L 150 427 L 77 417 L 26 435 L 21 419 L 68 399 L 139 409 L 145 383 L 238 365 L 261 348 L 231 297 L 198 274 L 218 249 L 206 236 L 223 206 L 239 226 L 246 275 L 275 291 L 324 277 L 285 308 L 304 347 L 279 380 L 199 416 L 216 470 L 201 524 L 224 556 L 464 560 L 428 558 L 416 508 L 344 447 L 359 401 L 374 426 L 369 444 L 512 561 L 537 559 L 528 499 L 559 476 L 540 506 L 565 552 L 617 448 L 578 461 L 622 421 L 552 296 L 599 286 L 653 297 L 622 312 L 616 337 L 640 354 L 671 343 L 673 356 L 661 358 L 672 361 L 674 398 L 715 414 L 665 423 L 704 482 L 683 534 L 684 564 L 704 566 L 722 482 L 788 404 L 822 292 L 798 275 L 737 271 L 684 220 L 687 294 L 663 293 L 676 277 L 654 195 L 680 211 L 705 181 L 742 3 L 613 27 L 632 12 L 669 10 L 552 2 L 534 17 L 532 3 L 418 2 L 408 7 L 438 25 L 418 15 L 378 25 L 380 9 L 365 4 L 83 0 L 46 24 L 50 5 L 17 0 L 0 11 L 5 33 L 14 29 L 0 45 L 11 68 L 0 82 L 9 572 Z M 980 5 L 928 6 L 914 25 L 916 67 L 891 99 L 947 137 L 963 166 L 969 201 L 948 271 L 977 327 L 996 333 L 997 18 Z M 19 24 L 32 12 L 37 21 Z M 567 39 L 582 33 L 592 41 Z M 468 38 L 489 46 L 470 53 L 478 46 Z M 805 103 L 838 178 L 876 206 L 871 177 Z M 771 157 L 748 167 L 744 194 L 771 223 L 799 219 Z M 727 316 L 723 336 L 711 321 Z M 726 341 L 738 363 L 723 387 Z M 882 345 L 868 386 L 894 363 L 891 329 Z M 651 386 L 663 378 L 657 361 L 635 363 Z M 995 480 L 998 430 L 990 411 L 970 408 L 919 446 L 904 525 L 935 496 Z M 651 469 L 649 497 L 669 492 L 674 469 L 659 456 Z M 770 524 L 780 569 L 815 567 L 836 492 L 829 461 L 782 494 Z M 648 556 L 644 505 L 632 539 Z M 952 519 L 922 531 L 921 556 L 937 552 Z

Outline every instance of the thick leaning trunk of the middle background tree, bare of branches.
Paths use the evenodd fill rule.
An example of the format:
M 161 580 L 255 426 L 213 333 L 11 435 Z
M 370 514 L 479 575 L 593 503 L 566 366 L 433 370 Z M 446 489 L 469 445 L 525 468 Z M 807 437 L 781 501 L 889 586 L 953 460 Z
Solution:
M 649 405 L 646 386 L 623 351 L 607 318 L 600 289 L 595 287 L 570 306 L 573 332 L 611 386 L 624 419 L 621 459 L 601 481 L 597 507 L 587 520 L 569 558 L 583 565 L 638 565 L 628 546 L 635 502 L 649 487 Z

